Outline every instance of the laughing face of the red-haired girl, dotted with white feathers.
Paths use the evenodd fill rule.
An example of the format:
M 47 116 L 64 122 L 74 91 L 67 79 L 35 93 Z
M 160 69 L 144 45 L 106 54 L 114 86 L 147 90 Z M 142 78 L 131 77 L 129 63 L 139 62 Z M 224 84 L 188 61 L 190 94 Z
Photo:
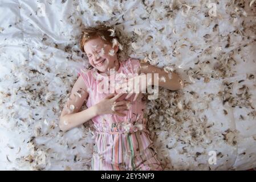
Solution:
M 84 51 L 90 64 L 103 73 L 115 67 L 115 62 L 118 61 L 116 53 L 118 49 L 118 46 L 112 48 L 110 44 L 105 43 L 99 37 L 88 40 L 84 44 Z

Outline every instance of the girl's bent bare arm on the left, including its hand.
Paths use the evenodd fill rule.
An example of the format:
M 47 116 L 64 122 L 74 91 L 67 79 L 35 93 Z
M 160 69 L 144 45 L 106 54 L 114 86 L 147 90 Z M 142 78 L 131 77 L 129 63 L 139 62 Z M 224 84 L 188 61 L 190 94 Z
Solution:
M 110 94 L 98 104 L 78 112 L 88 97 L 86 90 L 87 88 L 84 84 L 83 78 L 82 76 L 79 76 L 71 90 L 69 101 L 65 104 L 62 114 L 60 115 L 60 130 L 70 130 L 101 114 L 125 116 L 125 114 L 120 113 L 120 111 L 128 109 L 128 101 L 116 101 L 123 95 L 121 93 L 117 95 Z

